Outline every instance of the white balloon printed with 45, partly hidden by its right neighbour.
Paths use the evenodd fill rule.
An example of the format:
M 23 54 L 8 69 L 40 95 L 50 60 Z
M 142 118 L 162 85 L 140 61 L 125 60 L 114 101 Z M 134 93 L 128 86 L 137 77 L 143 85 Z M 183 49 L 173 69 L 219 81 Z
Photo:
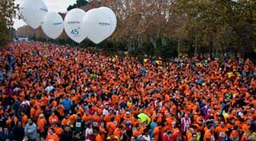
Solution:
M 84 10 L 80 8 L 73 8 L 70 10 L 64 20 L 64 28 L 67 36 L 75 42 L 82 42 L 86 37 L 82 30 L 82 20 L 84 17 Z

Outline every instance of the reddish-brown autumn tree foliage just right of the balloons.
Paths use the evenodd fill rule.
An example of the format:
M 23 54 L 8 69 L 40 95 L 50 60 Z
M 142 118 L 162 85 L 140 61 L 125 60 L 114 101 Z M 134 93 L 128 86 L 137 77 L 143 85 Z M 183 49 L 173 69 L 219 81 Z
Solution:
M 156 48 L 166 46 L 166 37 L 172 37 L 172 0 L 103 0 L 102 4 L 112 8 L 118 17 L 112 39 L 125 40 L 130 51 L 143 48 L 144 44 L 146 50 L 152 50 L 152 46 L 153 54 L 158 54 L 160 49 Z

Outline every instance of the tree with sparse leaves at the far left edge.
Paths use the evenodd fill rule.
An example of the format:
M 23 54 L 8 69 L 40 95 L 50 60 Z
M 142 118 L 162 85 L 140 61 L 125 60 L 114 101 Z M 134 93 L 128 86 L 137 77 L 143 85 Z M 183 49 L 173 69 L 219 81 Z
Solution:
M 0 1 L 0 47 L 6 45 L 14 36 L 13 19 L 16 16 L 18 6 L 15 5 L 15 0 Z

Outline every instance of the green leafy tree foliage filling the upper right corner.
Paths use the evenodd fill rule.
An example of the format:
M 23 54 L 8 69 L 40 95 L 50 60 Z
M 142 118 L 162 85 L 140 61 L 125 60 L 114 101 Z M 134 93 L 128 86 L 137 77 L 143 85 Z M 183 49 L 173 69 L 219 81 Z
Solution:
M 187 15 L 183 32 L 195 48 L 246 54 L 255 47 L 256 2 L 253 0 L 179 0 L 177 12 Z

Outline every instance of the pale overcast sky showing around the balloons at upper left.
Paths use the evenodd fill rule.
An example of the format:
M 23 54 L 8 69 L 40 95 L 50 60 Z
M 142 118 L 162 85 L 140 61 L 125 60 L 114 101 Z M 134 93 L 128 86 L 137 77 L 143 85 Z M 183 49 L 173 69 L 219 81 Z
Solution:
M 15 0 L 15 3 L 20 4 L 23 0 Z M 48 7 L 48 11 L 54 12 L 67 12 L 67 7 L 76 2 L 76 0 L 43 0 L 46 6 Z M 15 19 L 15 29 L 26 25 L 23 20 Z

